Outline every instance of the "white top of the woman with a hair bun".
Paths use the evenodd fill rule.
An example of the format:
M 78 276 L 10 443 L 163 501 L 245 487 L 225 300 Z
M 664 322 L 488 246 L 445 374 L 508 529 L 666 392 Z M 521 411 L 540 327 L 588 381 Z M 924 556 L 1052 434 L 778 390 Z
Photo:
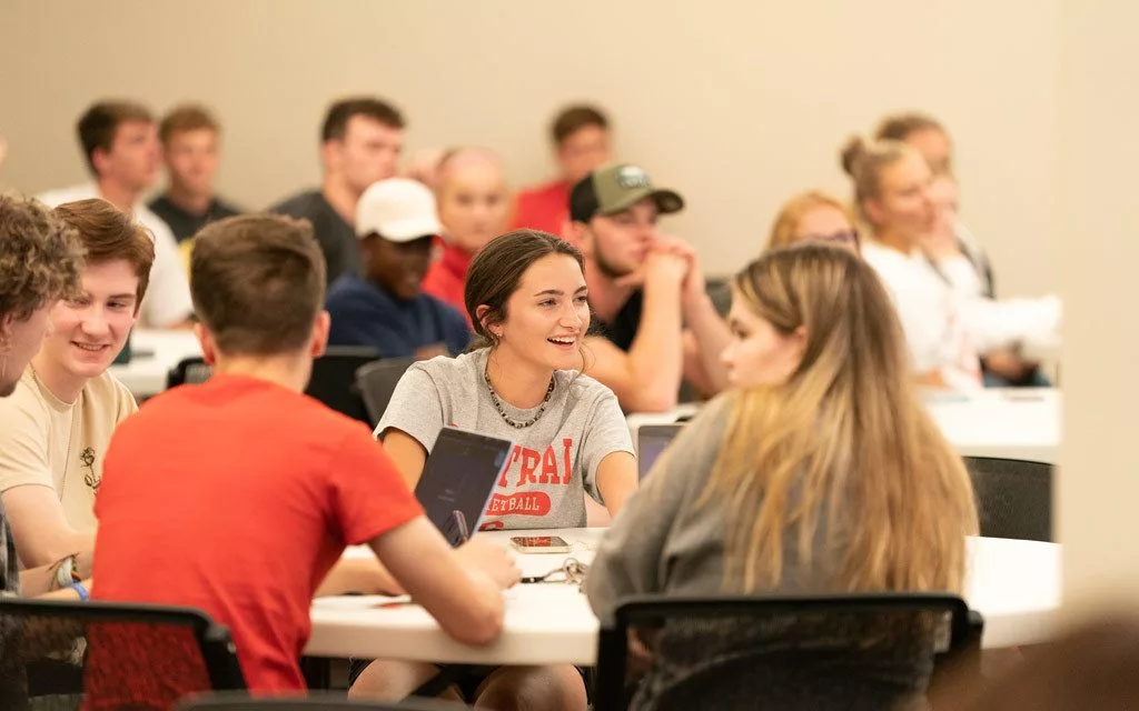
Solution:
M 936 371 L 954 389 L 981 388 L 981 361 L 958 299 L 925 256 L 866 242 L 862 258 L 894 300 L 917 372 Z

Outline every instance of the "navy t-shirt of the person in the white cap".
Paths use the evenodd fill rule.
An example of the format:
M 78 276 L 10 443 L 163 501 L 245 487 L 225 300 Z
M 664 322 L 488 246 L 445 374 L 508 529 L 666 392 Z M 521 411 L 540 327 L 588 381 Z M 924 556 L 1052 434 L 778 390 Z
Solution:
M 385 358 L 407 358 L 425 346 L 443 344 L 459 354 L 470 344 L 467 321 L 429 294 L 398 299 L 359 274 L 344 274 L 328 290 L 333 346 L 372 346 Z

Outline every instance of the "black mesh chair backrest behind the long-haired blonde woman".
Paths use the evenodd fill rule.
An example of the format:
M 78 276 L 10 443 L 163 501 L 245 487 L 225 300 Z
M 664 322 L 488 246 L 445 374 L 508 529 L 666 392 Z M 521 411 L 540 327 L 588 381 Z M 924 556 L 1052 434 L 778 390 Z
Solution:
M 662 711 L 924 708 L 935 656 L 982 627 L 952 595 L 632 597 L 601 629 L 595 708 L 625 709 L 642 672 L 634 705 Z

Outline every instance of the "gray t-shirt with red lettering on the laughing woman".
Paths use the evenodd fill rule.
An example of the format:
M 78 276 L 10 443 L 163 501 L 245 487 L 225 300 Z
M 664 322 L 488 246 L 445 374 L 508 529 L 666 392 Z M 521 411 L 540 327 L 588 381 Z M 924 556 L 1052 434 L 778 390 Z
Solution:
M 597 468 L 614 452 L 633 453 L 617 398 L 576 371 L 555 371 L 542 416 L 528 428 L 507 424 L 486 387 L 487 349 L 457 358 L 413 364 L 400 380 L 376 428 L 398 429 L 431 452 L 444 425 L 510 439 L 515 447 L 483 519 L 483 528 L 579 528 L 585 526 L 588 493 L 600 502 Z M 515 422 L 538 414 L 502 403 Z M 604 503 L 604 502 L 601 502 Z

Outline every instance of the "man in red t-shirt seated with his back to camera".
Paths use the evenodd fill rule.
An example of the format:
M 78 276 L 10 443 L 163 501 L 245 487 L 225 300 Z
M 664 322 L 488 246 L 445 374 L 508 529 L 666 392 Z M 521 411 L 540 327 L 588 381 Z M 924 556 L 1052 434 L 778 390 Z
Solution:
M 204 610 L 229 627 L 260 692 L 304 687 L 318 592 L 402 588 L 456 639 L 493 639 L 513 560 L 478 539 L 452 552 L 368 429 L 302 394 L 328 334 L 311 226 L 213 223 L 190 280 L 213 377 L 155 397 L 115 432 L 93 596 Z M 329 574 L 355 544 L 390 573 L 371 560 Z

